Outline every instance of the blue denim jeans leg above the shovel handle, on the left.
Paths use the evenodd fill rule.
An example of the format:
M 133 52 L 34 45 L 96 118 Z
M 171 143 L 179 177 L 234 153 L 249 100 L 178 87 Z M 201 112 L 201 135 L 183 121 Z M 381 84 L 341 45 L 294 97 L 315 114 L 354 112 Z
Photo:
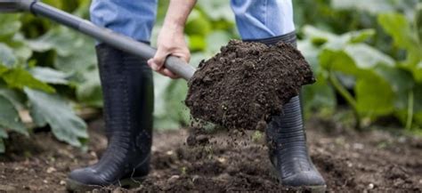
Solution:
M 150 42 L 158 0 L 93 0 L 91 21 L 138 41 Z

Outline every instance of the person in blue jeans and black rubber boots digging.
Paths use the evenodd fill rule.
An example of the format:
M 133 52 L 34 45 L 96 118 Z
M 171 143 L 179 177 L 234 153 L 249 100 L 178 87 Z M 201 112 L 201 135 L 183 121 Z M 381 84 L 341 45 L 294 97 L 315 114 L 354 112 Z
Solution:
M 96 45 L 109 145 L 98 163 L 69 173 L 67 189 L 85 191 L 109 185 L 139 186 L 150 172 L 153 82 L 151 68 L 178 78 L 165 68 L 168 55 L 188 62 L 190 52 L 183 36 L 195 0 L 170 0 L 158 35 L 158 51 L 140 60 L 108 44 Z M 97 26 L 150 43 L 157 0 L 93 0 L 91 20 Z M 231 0 L 243 41 L 267 45 L 284 42 L 296 46 L 291 0 Z M 280 183 L 287 187 L 324 191 L 326 183 L 312 164 L 306 147 L 299 96 L 283 106 L 266 128 L 270 159 Z

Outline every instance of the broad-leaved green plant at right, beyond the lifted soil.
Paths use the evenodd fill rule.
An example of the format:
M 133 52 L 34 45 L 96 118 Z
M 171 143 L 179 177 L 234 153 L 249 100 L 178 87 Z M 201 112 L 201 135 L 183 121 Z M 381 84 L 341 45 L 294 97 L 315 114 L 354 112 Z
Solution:
M 414 24 L 397 12 L 377 16 L 379 25 L 393 37 L 394 46 L 404 52 L 402 58 L 390 57 L 365 44 L 375 35 L 373 29 L 337 36 L 304 27 L 299 47 L 320 82 L 305 89 L 305 98 L 317 101 L 308 103 L 305 109 L 334 108 L 331 101 L 335 101 L 335 90 L 353 109 L 357 128 L 361 128 L 362 118 L 385 116 L 398 118 L 408 129 L 420 127 L 422 109 L 420 101 L 415 100 L 422 97 L 420 10 L 419 4 Z

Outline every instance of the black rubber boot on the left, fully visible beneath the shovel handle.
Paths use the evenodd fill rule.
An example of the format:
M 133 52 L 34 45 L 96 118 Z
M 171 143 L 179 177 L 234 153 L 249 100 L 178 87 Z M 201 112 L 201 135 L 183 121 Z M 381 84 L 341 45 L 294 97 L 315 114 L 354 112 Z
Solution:
M 96 47 L 109 145 L 100 161 L 69 174 L 67 188 L 139 186 L 150 171 L 153 84 L 146 60 L 107 44 Z

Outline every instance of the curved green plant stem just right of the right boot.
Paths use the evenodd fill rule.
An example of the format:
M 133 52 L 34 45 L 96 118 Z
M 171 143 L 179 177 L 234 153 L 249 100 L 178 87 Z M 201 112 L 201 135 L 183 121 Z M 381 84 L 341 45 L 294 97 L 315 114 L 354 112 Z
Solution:
M 349 103 L 350 107 L 352 107 L 353 115 L 356 120 L 355 128 L 356 130 L 361 131 L 361 117 L 357 109 L 356 101 L 354 100 L 352 94 L 350 94 L 350 92 L 345 89 L 345 86 L 343 86 L 343 84 L 338 81 L 337 77 L 331 70 L 329 70 L 329 82 L 333 84 L 337 92 L 339 92 L 340 95 L 345 98 L 345 101 Z

